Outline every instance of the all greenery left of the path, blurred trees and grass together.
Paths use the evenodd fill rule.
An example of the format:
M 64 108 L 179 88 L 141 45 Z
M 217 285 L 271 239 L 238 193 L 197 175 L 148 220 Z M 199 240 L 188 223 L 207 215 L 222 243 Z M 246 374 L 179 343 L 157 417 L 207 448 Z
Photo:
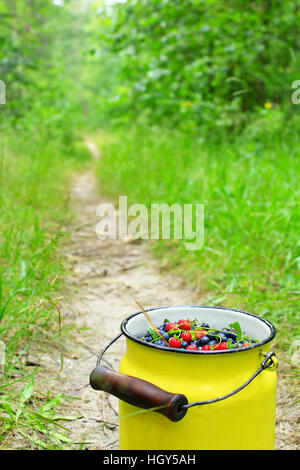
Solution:
M 70 443 L 56 415 L 65 397 L 48 393 L 46 380 L 37 387 L 35 378 L 45 348 L 56 346 L 63 354 L 56 299 L 64 264 L 58 248 L 70 218 L 69 178 L 87 159 L 77 144 L 84 122 L 84 21 L 77 0 L 0 5 L 0 80 L 6 85 L 6 104 L 0 105 L 2 448 L 16 432 L 34 449 Z M 29 352 L 33 364 L 27 363 Z

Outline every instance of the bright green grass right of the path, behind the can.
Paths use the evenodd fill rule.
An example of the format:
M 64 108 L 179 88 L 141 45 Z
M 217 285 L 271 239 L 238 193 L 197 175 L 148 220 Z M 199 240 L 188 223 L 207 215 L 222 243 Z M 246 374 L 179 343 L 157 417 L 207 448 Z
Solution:
M 206 304 L 269 319 L 288 351 L 299 334 L 300 139 L 277 117 L 232 138 L 143 125 L 104 132 L 98 177 L 107 194 L 129 203 L 203 203 L 203 249 L 159 240 L 155 254 L 198 286 Z

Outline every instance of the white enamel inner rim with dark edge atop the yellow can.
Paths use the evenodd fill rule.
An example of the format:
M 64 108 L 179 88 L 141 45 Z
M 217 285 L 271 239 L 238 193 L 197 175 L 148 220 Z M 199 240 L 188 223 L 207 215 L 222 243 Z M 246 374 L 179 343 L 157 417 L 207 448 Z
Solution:
M 160 349 L 167 352 L 176 352 L 178 354 L 228 354 L 247 351 L 269 343 L 276 335 L 276 329 L 272 323 L 253 313 L 245 312 L 227 307 L 211 307 L 206 305 L 174 305 L 165 307 L 155 307 L 147 309 L 151 320 L 155 326 L 159 326 L 167 318 L 170 321 L 176 321 L 181 318 L 197 318 L 201 323 L 208 323 L 213 328 L 226 328 L 230 323 L 238 321 L 242 331 L 250 337 L 259 339 L 257 343 L 251 343 L 250 346 L 236 349 L 212 350 L 212 351 L 186 351 L 185 349 L 166 348 L 151 343 L 145 343 L 136 336 L 142 336 L 149 328 L 149 322 L 146 320 L 143 312 L 137 312 L 121 324 L 122 333 L 130 340 L 145 347 Z

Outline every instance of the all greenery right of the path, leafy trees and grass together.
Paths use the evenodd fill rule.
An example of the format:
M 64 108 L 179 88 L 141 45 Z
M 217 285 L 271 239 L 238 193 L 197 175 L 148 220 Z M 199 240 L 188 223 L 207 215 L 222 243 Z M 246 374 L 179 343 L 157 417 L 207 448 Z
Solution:
M 156 254 L 206 303 L 280 325 L 284 346 L 299 294 L 299 15 L 292 0 L 127 0 L 91 23 L 91 63 L 110 72 L 102 188 L 148 206 L 203 203 L 204 248 L 160 240 Z

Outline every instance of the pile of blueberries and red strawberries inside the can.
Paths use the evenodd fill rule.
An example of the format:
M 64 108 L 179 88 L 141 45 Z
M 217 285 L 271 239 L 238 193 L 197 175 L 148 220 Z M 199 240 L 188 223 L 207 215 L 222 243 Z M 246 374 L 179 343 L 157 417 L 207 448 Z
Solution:
M 145 336 L 139 339 L 157 346 L 187 351 L 222 351 L 250 347 L 259 342 L 258 339 L 246 336 L 238 322 L 220 330 L 208 323 L 199 323 L 196 319 L 176 322 L 166 319 L 157 330 L 159 335 L 149 328 Z

